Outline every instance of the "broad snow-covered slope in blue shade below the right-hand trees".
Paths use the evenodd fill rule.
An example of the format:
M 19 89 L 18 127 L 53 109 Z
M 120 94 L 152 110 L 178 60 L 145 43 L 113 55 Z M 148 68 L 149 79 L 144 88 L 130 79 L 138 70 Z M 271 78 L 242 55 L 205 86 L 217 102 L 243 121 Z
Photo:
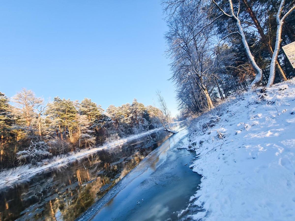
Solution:
M 186 147 L 202 175 L 191 219 L 295 220 L 295 79 L 195 119 Z

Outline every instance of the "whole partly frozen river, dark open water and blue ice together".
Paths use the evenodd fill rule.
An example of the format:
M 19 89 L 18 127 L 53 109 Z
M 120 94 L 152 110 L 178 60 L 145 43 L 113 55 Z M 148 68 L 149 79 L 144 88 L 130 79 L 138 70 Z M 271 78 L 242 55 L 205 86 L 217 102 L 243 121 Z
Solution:
M 0 220 L 177 220 L 200 183 L 180 132 L 158 131 L 0 192 Z

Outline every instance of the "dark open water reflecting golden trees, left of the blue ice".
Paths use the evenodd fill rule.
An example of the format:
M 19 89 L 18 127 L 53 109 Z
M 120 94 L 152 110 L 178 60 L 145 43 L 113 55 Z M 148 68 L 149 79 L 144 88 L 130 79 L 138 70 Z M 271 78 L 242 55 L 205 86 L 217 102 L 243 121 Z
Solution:
M 74 220 L 169 136 L 142 136 L 2 189 L 0 220 Z

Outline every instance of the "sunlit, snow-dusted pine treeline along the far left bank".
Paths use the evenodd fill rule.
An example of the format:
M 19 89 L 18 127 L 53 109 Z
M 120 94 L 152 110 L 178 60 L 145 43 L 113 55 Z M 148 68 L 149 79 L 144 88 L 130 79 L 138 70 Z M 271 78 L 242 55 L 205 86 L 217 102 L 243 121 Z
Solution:
M 55 97 L 45 104 L 23 89 L 11 99 L 15 106 L 9 101 L 0 92 L 0 169 L 158 128 L 164 118 L 161 110 L 136 99 L 104 111 L 89 98 L 79 103 Z

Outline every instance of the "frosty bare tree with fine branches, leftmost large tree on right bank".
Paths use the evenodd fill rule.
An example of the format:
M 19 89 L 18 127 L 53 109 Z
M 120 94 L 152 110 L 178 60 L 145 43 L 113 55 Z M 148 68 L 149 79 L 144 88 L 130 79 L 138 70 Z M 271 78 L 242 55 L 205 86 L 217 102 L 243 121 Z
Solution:
M 214 108 L 207 83 L 213 67 L 212 25 L 208 21 L 202 1 L 178 6 L 177 13 L 168 20 L 167 55 L 171 63 L 172 77 L 177 85 L 189 85 L 204 95 L 208 109 Z M 201 34 L 200 34 L 201 33 Z M 197 89 L 198 88 L 198 89 Z

